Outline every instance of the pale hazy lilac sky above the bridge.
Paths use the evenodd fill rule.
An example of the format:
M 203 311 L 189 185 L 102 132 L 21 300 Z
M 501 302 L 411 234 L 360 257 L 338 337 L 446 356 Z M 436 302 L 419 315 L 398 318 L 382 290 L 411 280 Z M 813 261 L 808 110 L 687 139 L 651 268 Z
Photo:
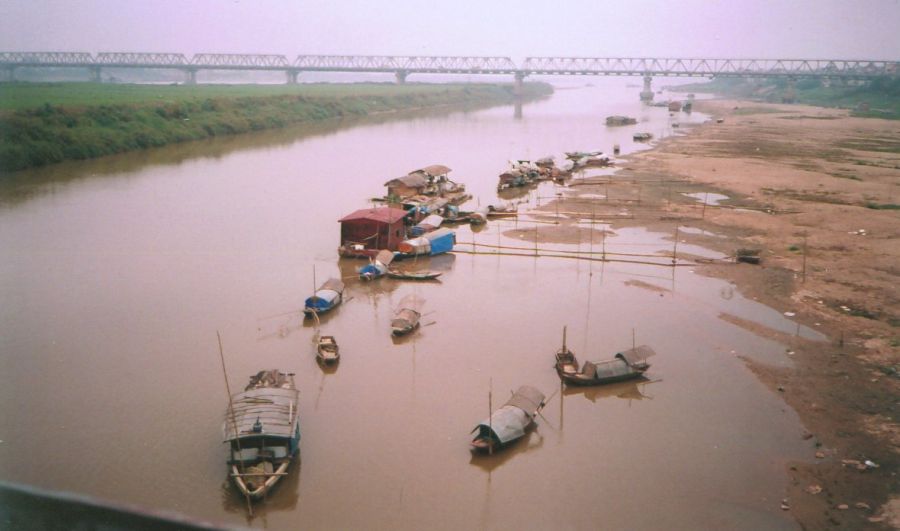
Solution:
M 900 60 L 900 0 L 0 0 L 0 51 Z

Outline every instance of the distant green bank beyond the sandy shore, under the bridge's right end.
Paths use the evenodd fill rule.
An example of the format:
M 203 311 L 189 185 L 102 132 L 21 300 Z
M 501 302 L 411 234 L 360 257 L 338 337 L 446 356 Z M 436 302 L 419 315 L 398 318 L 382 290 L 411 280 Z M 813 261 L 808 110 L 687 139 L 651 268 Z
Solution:
M 716 79 L 673 88 L 688 92 L 714 92 L 724 96 L 781 102 L 790 95 L 787 80 Z M 794 101 L 820 107 L 850 109 L 854 116 L 900 120 L 900 79 L 879 79 L 862 85 L 825 86 L 817 79 L 801 79 L 793 90 Z

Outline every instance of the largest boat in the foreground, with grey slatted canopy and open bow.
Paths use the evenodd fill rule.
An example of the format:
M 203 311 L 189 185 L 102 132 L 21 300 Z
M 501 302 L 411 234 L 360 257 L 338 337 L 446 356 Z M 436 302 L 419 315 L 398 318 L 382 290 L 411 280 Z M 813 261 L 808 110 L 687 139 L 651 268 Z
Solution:
M 300 391 L 293 373 L 260 371 L 232 395 L 223 431 L 228 469 L 244 496 L 264 497 L 300 453 Z

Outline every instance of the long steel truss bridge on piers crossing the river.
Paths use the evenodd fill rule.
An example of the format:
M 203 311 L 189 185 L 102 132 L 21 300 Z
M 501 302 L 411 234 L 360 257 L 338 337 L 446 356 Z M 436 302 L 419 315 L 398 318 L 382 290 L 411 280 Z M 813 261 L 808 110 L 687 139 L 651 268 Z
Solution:
M 639 57 L 527 57 L 517 65 L 509 57 L 298 55 L 274 54 L 104 52 L 0 52 L 0 71 L 9 80 L 21 68 L 83 68 L 101 80 L 103 68 L 175 69 L 187 83 L 197 82 L 201 70 L 284 72 L 296 83 L 302 72 L 368 72 L 394 74 L 398 83 L 411 74 L 512 75 L 517 86 L 528 76 L 641 76 L 645 93 L 652 94 L 655 76 L 757 77 L 873 80 L 896 78 L 900 62 L 845 59 L 685 59 Z M 642 96 L 643 97 L 643 96 Z

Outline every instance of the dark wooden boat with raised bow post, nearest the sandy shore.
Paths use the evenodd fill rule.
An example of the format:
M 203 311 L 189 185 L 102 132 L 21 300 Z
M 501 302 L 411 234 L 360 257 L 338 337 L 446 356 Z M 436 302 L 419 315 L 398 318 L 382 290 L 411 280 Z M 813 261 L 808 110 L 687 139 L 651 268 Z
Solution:
M 643 375 L 650 368 L 647 358 L 655 354 L 650 347 L 641 345 L 619 352 L 609 360 L 586 361 L 579 369 L 578 359 L 566 347 L 566 329 L 563 328 L 563 345 L 556 352 L 556 374 L 566 384 L 573 385 L 602 385 L 621 382 Z

